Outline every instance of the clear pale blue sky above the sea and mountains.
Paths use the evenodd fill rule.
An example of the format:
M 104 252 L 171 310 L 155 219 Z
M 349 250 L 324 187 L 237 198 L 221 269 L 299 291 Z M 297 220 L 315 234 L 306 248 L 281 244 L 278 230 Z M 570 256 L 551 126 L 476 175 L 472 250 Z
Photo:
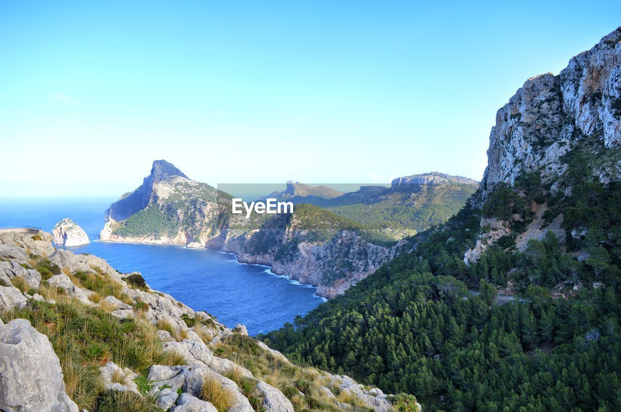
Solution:
M 621 2 L 0 2 L 0 196 L 480 179 L 496 110 Z M 27 157 L 25 157 L 27 156 Z

